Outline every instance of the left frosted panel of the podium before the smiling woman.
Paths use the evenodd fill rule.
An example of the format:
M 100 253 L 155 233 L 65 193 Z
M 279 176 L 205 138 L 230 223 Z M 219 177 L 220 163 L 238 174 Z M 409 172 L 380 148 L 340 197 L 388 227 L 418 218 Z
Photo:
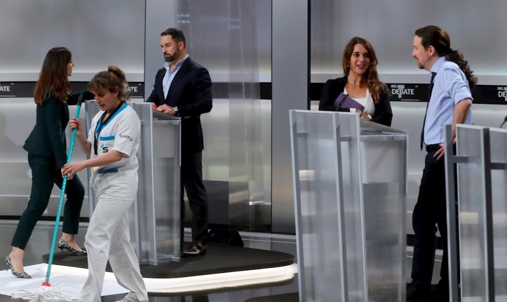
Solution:
M 300 290 L 304 301 L 341 297 L 336 128 L 330 112 L 291 112 Z

